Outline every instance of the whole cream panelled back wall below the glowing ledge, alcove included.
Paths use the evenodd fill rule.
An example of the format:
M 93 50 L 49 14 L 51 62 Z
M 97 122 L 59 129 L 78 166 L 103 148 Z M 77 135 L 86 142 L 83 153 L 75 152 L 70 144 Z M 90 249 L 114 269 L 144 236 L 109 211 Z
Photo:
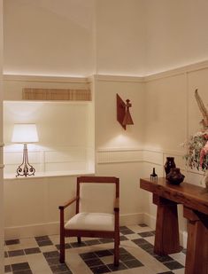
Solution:
M 29 159 L 31 159 L 32 163 L 34 160 L 37 171 L 41 167 L 39 166 L 40 163 L 35 162 L 35 157 L 38 160 L 38 155 L 36 154 L 38 154 L 38 149 L 42 149 L 42 145 L 53 146 L 54 153 L 57 148 L 58 154 L 53 158 L 55 160 L 54 171 L 58 168 L 58 159 L 60 159 L 60 151 L 58 151 L 57 146 L 58 139 L 54 133 L 51 134 L 51 129 L 45 130 L 45 127 L 58 131 L 61 127 L 64 127 L 65 130 L 69 130 L 66 130 L 65 134 L 61 135 L 61 144 L 59 145 L 65 145 L 65 153 L 67 144 L 76 142 L 75 144 L 79 145 L 77 143 L 79 140 L 82 142 L 81 145 L 95 145 L 96 175 L 119 176 L 121 224 L 142 222 L 143 212 L 141 208 L 143 207 L 143 196 L 138 184 L 139 177 L 143 176 L 143 78 L 95 75 L 88 80 L 89 82 L 84 78 L 77 80 L 72 78 L 71 81 L 69 78 L 63 80 L 62 78 L 58 79 L 58 77 L 50 77 L 49 79 L 49 77 L 43 76 L 34 78 L 32 76 L 6 75 L 4 77 L 5 98 L 9 98 L 9 100 L 4 102 L 5 171 L 12 173 L 11 168 L 18 166 L 17 160 L 20 160 L 21 156 L 20 148 L 19 151 L 14 152 L 10 143 L 13 122 L 36 122 L 40 130 L 40 142 L 36 145 L 34 151 L 29 151 Z M 20 100 L 22 87 L 50 88 L 53 85 L 56 88 L 63 88 L 63 86 L 65 88 L 72 86 L 73 88 L 90 87 L 93 101 L 90 103 L 35 103 Z M 124 130 L 116 120 L 117 93 L 124 100 L 129 98 L 133 105 L 130 112 L 135 124 L 134 126 L 127 126 L 127 130 Z M 81 111 L 80 108 L 85 107 L 85 104 L 89 104 L 90 109 L 87 111 L 85 108 L 85 112 L 87 111 L 87 113 L 84 113 L 82 117 L 79 112 Z M 70 112 L 68 107 L 72 106 L 74 110 Z M 13 115 L 14 112 L 16 113 L 15 115 Z M 87 119 L 88 115 L 90 123 L 87 124 L 83 118 Z M 49 117 L 52 121 L 47 120 Z M 54 117 L 57 118 L 54 119 Z M 73 121 L 76 121 L 76 126 L 71 123 L 72 118 Z M 57 121 L 57 119 L 59 120 L 56 125 L 54 121 Z M 95 131 L 94 119 L 96 124 Z M 77 135 L 75 130 L 79 129 L 78 121 L 81 123 L 83 129 L 86 127 L 88 129 L 81 136 Z M 19 158 L 15 158 L 16 153 L 19 153 Z M 47 155 L 49 152 L 45 151 L 44 153 Z M 12 239 L 45 233 L 58 233 L 58 205 L 73 197 L 76 176 L 83 174 L 84 171 L 84 174 L 87 171 L 88 173 L 90 171 L 91 173 L 94 172 L 95 161 L 93 155 L 90 155 L 90 157 L 91 164 L 89 163 L 89 165 L 91 169 L 85 169 L 82 173 L 81 170 L 79 173 L 76 173 L 78 168 L 71 170 L 72 167 L 77 166 L 77 163 L 73 159 L 66 167 L 67 176 L 65 175 L 65 170 L 61 172 L 60 169 L 57 174 L 51 172 L 51 170 L 50 172 L 46 170 L 42 175 L 37 172 L 35 177 L 32 178 L 14 178 L 15 172 L 13 172 L 12 177 L 8 177 L 5 174 L 5 238 Z M 65 159 L 63 163 L 60 163 L 63 167 L 66 164 Z M 48 164 L 47 162 L 44 163 L 45 166 Z M 70 173 L 73 176 L 70 176 Z M 33 193 L 32 196 L 31 193 Z M 12 214 L 14 207 L 16 210 L 15 216 Z

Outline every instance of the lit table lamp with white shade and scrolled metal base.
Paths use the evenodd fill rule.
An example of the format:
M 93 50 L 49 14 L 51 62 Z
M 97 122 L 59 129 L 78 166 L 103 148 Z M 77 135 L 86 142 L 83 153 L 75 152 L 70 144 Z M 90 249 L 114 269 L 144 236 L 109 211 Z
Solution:
M 28 162 L 27 144 L 38 142 L 36 125 L 32 123 L 14 124 L 12 143 L 23 144 L 23 160 L 17 168 L 17 176 L 34 176 L 35 168 Z

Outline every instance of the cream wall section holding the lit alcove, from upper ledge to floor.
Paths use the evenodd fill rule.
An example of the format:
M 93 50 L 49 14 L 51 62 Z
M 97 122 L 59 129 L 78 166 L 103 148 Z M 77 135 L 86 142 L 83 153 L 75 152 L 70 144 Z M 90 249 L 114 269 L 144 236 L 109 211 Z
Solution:
M 58 233 L 58 205 L 75 195 L 76 176 L 95 172 L 94 102 L 24 101 L 22 89 L 90 85 L 87 78 L 4 76 L 5 239 Z M 11 143 L 15 122 L 37 125 L 39 142 L 28 145 L 35 177 L 15 178 L 22 160 L 22 147 Z

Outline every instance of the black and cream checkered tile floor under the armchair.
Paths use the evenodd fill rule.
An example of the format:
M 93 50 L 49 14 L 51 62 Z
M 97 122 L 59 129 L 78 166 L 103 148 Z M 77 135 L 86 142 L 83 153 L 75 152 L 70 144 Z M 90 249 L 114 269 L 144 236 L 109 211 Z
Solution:
M 153 252 L 155 232 L 144 224 L 120 227 L 119 267 L 113 265 L 112 239 L 66 239 L 65 263 L 59 263 L 59 237 L 5 241 L 5 273 L 16 274 L 183 274 L 186 250 L 166 256 Z

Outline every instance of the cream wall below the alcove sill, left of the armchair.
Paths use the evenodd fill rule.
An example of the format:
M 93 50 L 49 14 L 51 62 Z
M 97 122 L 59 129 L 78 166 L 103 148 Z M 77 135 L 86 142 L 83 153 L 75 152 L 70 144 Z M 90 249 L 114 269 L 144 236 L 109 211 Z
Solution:
M 58 234 L 58 206 L 75 196 L 75 182 L 76 176 L 4 180 L 5 239 Z M 71 207 L 67 215 L 74 213 Z

